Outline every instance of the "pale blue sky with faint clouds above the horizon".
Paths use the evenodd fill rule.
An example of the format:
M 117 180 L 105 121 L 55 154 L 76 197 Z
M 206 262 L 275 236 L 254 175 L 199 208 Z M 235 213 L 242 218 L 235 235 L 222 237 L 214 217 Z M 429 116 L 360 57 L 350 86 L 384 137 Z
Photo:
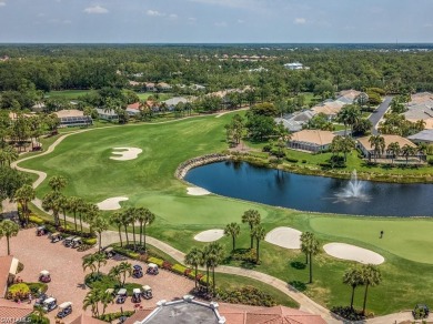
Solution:
M 0 0 L 0 42 L 433 42 L 433 0 Z

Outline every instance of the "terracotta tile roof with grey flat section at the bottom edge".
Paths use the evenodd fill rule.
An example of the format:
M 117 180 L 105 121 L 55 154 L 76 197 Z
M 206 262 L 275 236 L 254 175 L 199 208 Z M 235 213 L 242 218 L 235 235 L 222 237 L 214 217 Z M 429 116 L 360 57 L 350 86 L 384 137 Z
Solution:
M 187 296 L 185 296 L 187 297 Z M 325 324 L 319 315 L 313 315 L 284 306 L 258 307 L 231 304 L 205 304 L 202 302 L 179 300 L 174 305 L 192 305 L 198 308 L 184 307 L 183 310 L 170 308 L 161 312 L 161 303 L 157 308 L 143 308 L 137 311 L 124 324 L 190 324 L 190 323 L 226 323 L 226 324 Z M 189 304 L 190 303 L 190 304 Z M 169 304 L 169 303 L 167 303 Z M 165 305 L 167 305 L 165 304 Z M 213 308 L 213 312 L 212 312 Z M 167 312 L 171 311 L 171 312 Z M 179 312 L 178 312 L 179 311 Z M 184 312 L 189 313 L 185 314 Z M 185 317 L 184 317 L 185 316 Z M 188 317 L 187 317 L 188 316 Z M 158 321 L 158 322 L 157 322 Z

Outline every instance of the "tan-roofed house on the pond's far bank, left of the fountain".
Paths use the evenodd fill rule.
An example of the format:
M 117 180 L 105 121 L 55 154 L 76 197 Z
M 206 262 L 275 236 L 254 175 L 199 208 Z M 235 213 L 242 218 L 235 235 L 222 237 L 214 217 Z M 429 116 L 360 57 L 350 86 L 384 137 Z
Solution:
M 302 130 L 293 133 L 289 148 L 309 152 L 321 152 L 329 149 L 335 135 L 330 131 Z

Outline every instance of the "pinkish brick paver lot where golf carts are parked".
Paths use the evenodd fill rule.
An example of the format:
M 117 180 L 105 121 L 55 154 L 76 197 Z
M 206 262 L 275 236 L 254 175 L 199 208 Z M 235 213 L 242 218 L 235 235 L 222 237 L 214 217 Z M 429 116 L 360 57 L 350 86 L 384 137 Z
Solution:
M 53 295 L 58 304 L 72 302 L 73 313 L 66 318 L 66 323 L 74 320 L 82 312 L 82 301 L 89 288 L 83 285 L 84 273 L 81 266 L 82 256 L 95 252 L 78 252 L 77 250 L 64 247 L 61 242 L 50 243 L 47 236 L 37 236 L 36 230 L 20 231 L 18 236 L 11 239 L 11 254 L 19 259 L 24 265 L 24 270 L 18 275 L 24 282 L 37 282 L 41 270 L 51 273 L 52 281 L 48 284 L 47 294 Z M 7 254 L 6 239 L 0 240 L 0 255 Z M 145 264 L 130 261 L 132 264 L 141 264 L 145 271 Z M 109 260 L 108 264 L 101 267 L 107 273 L 118 261 Z M 141 279 L 127 279 L 127 282 L 137 282 L 142 285 L 148 284 L 153 290 L 153 298 L 142 300 L 141 305 L 153 306 L 160 300 L 173 300 L 188 294 L 194 286 L 194 282 L 168 271 L 160 271 L 159 275 L 144 275 Z M 122 305 L 123 310 L 133 310 L 133 304 L 129 297 Z M 100 306 L 102 308 L 102 306 Z M 108 313 L 120 311 L 120 305 L 109 305 Z M 90 307 L 85 312 L 91 314 Z M 49 314 L 51 323 L 57 311 Z

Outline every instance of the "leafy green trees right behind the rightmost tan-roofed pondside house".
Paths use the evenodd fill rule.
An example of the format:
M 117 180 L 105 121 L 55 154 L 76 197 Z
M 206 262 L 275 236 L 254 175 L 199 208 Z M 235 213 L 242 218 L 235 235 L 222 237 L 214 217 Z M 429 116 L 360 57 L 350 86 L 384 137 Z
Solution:
M 406 138 L 421 132 L 425 128 L 425 121 L 419 120 L 411 122 L 406 120 L 404 114 L 387 112 L 384 115 L 384 121 L 379 124 L 377 130 L 382 134 L 394 134 Z

